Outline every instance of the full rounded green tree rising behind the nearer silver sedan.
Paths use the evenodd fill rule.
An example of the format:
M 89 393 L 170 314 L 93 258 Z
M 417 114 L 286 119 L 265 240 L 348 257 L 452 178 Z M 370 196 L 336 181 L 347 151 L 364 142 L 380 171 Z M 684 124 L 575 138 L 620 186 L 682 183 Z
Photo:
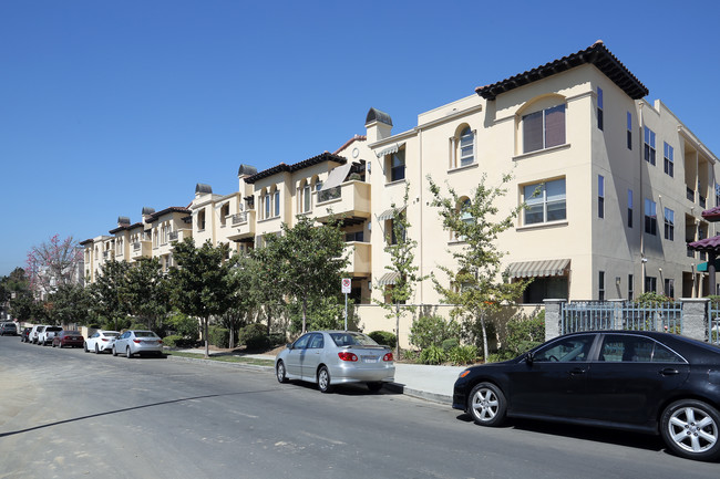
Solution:
M 302 332 L 307 330 L 308 304 L 337 295 L 348 264 L 344 238 L 337 221 L 316 227 L 313 220 L 298 216 L 292 228 L 282 225 L 282 235 L 266 238 L 270 274 L 281 291 L 302 308 Z

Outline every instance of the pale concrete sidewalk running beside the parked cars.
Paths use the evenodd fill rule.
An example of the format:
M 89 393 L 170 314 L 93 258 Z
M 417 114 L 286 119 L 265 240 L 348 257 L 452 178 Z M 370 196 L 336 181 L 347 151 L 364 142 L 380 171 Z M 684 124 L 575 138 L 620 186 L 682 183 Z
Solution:
M 203 350 L 183 350 L 187 353 L 204 353 Z M 173 357 L 172 355 L 169 357 Z M 245 357 L 275 361 L 275 356 L 268 354 L 248 354 Z M 186 361 L 205 361 L 187 360 Z M 209 364 L 233 365 L 243 367 L 241 363 L 209 362 Z M 272 366 L 251 366 L 254 369 L 272 371 Z M 390 391 L 405 394 L 434 403 L 452 405 L 453 385 L 457 375 L 464 371 L 463 366 L 428 366 L 423 364 L 395 363 L 395 382 L 385 385 Z

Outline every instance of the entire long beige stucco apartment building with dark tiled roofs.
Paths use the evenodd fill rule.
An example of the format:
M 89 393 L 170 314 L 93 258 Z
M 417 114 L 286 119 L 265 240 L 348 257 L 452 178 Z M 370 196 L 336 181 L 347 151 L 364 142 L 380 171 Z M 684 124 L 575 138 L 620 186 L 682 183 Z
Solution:
M 113 254 L 162 257 L 169 265 L 168 241 L 191 236 L 243 252 L 298 215 L 319 222 L 336 215 L 343 218 L 352 296 L 366 304 L 366 326 L 379 329 L 382 313 L 370 303 L 383 301 L 393 282 L 384 247 L 405 185 L 420 274 L 442 280 L 436 267 L 452 265 L 452 251 L 464 243 L 431 207 L 428 177 L 470 199 L 484 176 L 500 186 L 511 174 L 501 214 L 527 208 L 500 246 L 511 279 L 533 278 L 524 303 L 632 299 L 644 291 L 707 295 L 717 285 L 702 272 L 704 258 L 686 243 L 716 235 L 701 212 L 720 205 L 718 158 L 647 95 L 596 42 L 421 113 L 407 132 L 393 132 L 391 116 L 370 108 L 366 135 L 333 153 L 261 171 L 241 165 L 235 192 L 215 195 L 198 184 L 187 208 L 144 211 L 140 223 L 119 222 L 112 236 L 84 241 L 85 270 L 92 281 Z M 440 302 L 430 281 L 418 284 L 412 303 Z

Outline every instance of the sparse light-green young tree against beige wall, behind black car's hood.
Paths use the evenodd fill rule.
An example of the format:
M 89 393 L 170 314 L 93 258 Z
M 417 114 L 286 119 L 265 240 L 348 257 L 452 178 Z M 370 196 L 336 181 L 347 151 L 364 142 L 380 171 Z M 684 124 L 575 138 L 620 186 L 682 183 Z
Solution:
M 452 317 L 464 320 L 466 331 L 472 336 L 473 327 L 480 325 L 483 353 L 487 358 L 487 321 L 491 313 L 501 309 L 502 304 L 516 300 L 528 282 L 511 283 L 505 273 L 501 273 L 501 259 L 505 252 L 496 246 L 497 237 L 513 226 L 524 205 L 500 217 L 495 206 L 497 198 L 506 195 L 504 185 L 511 180 L 510 175 L 502 178 L 501 187 L 485 186 L 486 175 L 472 191 L 472 199 L 462 199 L 453 188 L 449 196 L 443 197 L 441 189 L 428 176 L 430 191 L 433 195 L 432 206 L 439 207 L 443 227 L 453 231 L 463 244 L 453 247 L 449 252 L 456 261 L 455 268 L 439 267 L 449 279 L 449 284 L 442 283 L 433 275 L 435 290 L 443 296 L 445 303 L 452 304 Z

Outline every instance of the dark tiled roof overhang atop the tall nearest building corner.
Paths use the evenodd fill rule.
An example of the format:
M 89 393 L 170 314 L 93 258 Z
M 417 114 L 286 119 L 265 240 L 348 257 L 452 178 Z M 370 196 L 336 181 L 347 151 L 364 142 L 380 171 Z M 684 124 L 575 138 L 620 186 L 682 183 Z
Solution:
M 585 50 L 545 63 L 536 69 L 518 73 L 492 85 L 479 86 L 475 88 L 475 92 L 485 100 L 495 100 L 502 93 L 584 64 L 595 65 L 632 100 L 640 100 L 649 93 L 648 88 L 610 53 L 601 40 L 598 40 Z

